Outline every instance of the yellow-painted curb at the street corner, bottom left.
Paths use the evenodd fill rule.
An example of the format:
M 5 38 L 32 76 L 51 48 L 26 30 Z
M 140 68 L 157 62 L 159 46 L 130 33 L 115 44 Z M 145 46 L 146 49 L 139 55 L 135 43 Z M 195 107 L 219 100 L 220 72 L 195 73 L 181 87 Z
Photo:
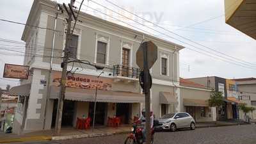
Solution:
M 6 140 L 0 140 L 0 143 L 18 143 L 18 142 L 26 142 L 26 141 L 51 141 L 51 136 L 31 136 L 24 138 L 12 138 Z

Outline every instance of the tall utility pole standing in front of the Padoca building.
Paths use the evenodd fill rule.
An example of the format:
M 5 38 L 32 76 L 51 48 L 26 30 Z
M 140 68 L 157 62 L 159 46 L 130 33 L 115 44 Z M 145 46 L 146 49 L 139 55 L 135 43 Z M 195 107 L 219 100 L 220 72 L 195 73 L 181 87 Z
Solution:
M 61 130 L 61 120 L 62 120 L 62 112 L 63 112 L 63 103 L 65 99 L 65 91 L 66 91 L 66 81 L 67 81 L 67 63 L 68 63 L 68 49 L 70 46 L 70 42 L 72 40 L 71 34 L 71 22 L 72 22 L 72 8 L 74 5 L 75 0 L 70 0 L 70 12 L 67 10 L 67 7 L 64 5 L 65 10 L 68 13 L 68 27 L 67 27 L 67 34 L 66 34 L 66 44 L 64 49 L 64 58 L 63 58 L 63 65 L 62 67 L 62 75 L 61 75 L 61 90 L 60 90 L 60 97 L 58 99 L 58 108 L 57 108 L 57 116 L 56 116 L 56 124 L 55 124 L 55 132 L 56 134 L 60 134 Z

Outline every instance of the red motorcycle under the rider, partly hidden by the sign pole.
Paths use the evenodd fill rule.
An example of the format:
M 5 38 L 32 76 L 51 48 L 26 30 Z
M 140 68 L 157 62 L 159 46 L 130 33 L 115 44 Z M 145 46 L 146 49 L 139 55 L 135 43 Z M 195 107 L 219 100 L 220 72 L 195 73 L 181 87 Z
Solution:
M 143 125 L 138 124 L 138 122 L 135 122 L 131 128 L 131 133 L 128 134 L 128 137 L 126 138 L 124 144 L 143 144 L 143 134 L 142 130 L 144 129 Z M 151 144 L 154 141 L 154 129 L 151 131 Z

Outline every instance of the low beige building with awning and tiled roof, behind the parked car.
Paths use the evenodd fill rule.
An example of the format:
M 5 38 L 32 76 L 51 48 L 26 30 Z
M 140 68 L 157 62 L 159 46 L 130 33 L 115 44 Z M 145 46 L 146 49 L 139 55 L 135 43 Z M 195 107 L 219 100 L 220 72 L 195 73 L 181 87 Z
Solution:
M 209 107 L 211 88 L 180 78 L 181 111 L 189 113 L 196 122 L 216 121 L 216 108 Z

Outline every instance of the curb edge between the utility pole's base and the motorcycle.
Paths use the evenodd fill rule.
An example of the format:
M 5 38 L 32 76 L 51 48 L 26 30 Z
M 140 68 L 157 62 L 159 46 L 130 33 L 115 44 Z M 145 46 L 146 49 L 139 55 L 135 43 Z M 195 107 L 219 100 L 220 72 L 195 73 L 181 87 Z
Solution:
M 52 136 L 52 141 L 58 140 L 72 140 L 78 138 L 94 138 L 99 136 L 112 136 L 115 134 L 127 134 L 129 131 L 122 131 L 122 132 L 106 132 L 106 133 L 96 133 L 96 134 L 76 134 L 76 135 L 68 135 L 68 136 Z

